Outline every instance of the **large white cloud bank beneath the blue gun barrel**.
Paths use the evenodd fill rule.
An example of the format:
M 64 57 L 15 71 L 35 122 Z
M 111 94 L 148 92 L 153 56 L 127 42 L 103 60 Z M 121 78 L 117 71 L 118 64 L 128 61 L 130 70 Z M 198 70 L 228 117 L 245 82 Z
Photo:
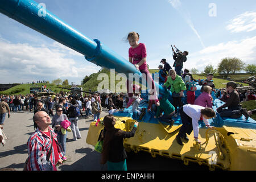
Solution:
M 31 46 L 0 38 L 0 47 L 1 83 L 61 78 L 80 84 L 82 78 L 100 69 L 86 61 L 80 53 L 56 42 L 48 47 L 44 44 Z M 84 59 L 84 63 L 76 58 Z

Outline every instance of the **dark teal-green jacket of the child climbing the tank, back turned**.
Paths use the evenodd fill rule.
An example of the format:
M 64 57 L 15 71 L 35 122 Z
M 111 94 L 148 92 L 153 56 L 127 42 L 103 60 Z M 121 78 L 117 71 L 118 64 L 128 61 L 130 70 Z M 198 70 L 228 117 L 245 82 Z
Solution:
M 171 114 L 175 111 L 175 107 L 168 101 L 169 92 L 164 93 L 164 96 L 160 98 L 160 106 L 157 107 L 156 117 L 159 117 L 161 109 L 164 111 L 164 114 Z

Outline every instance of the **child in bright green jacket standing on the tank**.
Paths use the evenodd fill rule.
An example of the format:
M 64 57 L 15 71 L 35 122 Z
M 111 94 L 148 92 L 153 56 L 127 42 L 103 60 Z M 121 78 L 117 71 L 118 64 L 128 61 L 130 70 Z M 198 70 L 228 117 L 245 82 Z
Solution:
M 177 75 L 173 69 L 169 71 L 169 76 L 163 86 L 171 86 L 170 91 L 172 92 L 172 98 L 174 100 L 175 107 L 174 117 L 177 117 L 177 106 L 180 108 L 184 105 L 181 101 L 181 97 L 184 97 L 183 91 L 187 90 L 187 87 L 181 76 Z

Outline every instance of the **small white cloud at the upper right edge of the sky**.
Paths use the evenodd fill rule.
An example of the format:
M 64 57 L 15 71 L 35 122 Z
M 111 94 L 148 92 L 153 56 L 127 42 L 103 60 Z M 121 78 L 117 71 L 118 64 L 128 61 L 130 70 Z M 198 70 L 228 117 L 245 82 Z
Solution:
M 228 21 L 226 30 L 230 32 L 250 32 L 256 30 L 256 12 L 246 11 L 245 13 L 236 16 Z

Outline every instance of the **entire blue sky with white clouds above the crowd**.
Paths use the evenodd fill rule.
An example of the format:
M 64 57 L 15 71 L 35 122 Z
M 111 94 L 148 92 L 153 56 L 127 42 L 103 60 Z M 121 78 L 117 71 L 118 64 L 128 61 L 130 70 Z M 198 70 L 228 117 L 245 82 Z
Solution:
M 130 31 L 146 44 L 147 64 L 156 69 L 166 58 L 172 64 L 170 44 L 189 51 L 184 68 L 203 71 L 224 57 L 256 63 L 256 2 L 183 0 L 37 0 L 89 39 L 99 39 L 128 60 Z M 216 7 L 216 16 L 210 3 Z M 100 67 L 80 53 L 0 14 L 0 83 L 82 78 Z

